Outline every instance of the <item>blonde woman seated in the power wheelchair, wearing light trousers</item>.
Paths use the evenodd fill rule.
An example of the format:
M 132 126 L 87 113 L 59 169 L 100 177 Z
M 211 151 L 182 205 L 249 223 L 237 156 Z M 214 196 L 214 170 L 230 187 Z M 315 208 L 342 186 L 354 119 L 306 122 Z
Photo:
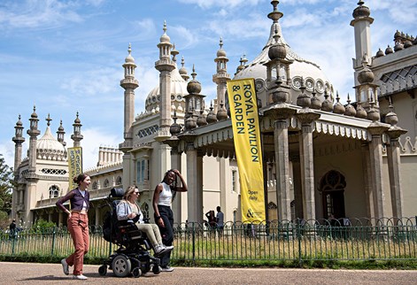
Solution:
M 136 227 L 143 231 L 151 241 L 155 255 L 162 255 L 174 249 L 174 246 L 165 246 L 159 233 L 159 228 L 155 224 L 144 224 L 143 213 L 138 204 L 137 198 L 140 196 L 139 189 L 135 185 L 131 185 L 125 191 L 123 199 L 117 205 L 118 220 L 132 220 Z

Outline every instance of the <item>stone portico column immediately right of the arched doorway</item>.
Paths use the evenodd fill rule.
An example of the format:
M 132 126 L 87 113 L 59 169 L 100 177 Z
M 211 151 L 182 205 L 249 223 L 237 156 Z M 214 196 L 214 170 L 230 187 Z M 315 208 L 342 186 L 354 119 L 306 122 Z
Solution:
M 388 127 L 383 126 L 381 123 L 373 122 L 367 129 L 372 135 L 372 140 L 369 143 L 369 154 L 375 211 L 375 216 L 373 218 L 380 219 L 385 217 L 385 197 L 383 195 L 382 186 L 382 133 L 385 132 Z

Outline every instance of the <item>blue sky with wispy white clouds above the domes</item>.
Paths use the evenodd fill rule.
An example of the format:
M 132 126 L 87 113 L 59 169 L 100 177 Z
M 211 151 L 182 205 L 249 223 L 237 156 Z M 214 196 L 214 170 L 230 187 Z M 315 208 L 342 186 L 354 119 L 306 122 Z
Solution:
M 345 103 L 353 94 L 351 58 L 355 56 L 351 12 L 355 0 L 280 1 L 282 35 L 298 56 L 320 65 Z M 417 34 L 417 0 L 368 0 L 373 56 L 399 30 Z M 0 1 L 0 154 L 14 166 L 14 126 L 21 115 L 26 142 L 36 107 L 42 137 L 50 114 L 56 136 L 62 119 L 67 146 L 73 146 L 73 120 L 81 119 L 84 169 L 97 165 L 100 146 L 123 141 L 120 87 L 129 43 L 138 66 L 135 113 L 158 86 L 157 44 L 167 35 L 180 51 L 180 65 L 197 80 L 206 103 L 216 96 L 212 74 L 220 37 L 233 75 L 243 56 L 251 62 L 265 46 L 273 11 L 266 0 L 1 0 Z M 414 34 L 413 34 L 414 33 Z

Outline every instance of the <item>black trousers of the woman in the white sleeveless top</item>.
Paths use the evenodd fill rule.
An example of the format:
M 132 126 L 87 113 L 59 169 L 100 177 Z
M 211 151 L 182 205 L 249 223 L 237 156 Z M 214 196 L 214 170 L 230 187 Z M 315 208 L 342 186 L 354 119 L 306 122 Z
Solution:
M 158 204 L 159 215 L 161 219 L 164 220 L 165 227 L 159 227 L 159 232 L 161 233 L 162 243 L 165 245 L 173 245 L 174 242 L 174 213 L 171 210 L 170 206 L 163 206 Z M 155 221 L 157 221 L 155 219 Z M 171 251 L 167 252 L 160 257 L 161 267 L 169 266 L 169 260 L 171 258 Z

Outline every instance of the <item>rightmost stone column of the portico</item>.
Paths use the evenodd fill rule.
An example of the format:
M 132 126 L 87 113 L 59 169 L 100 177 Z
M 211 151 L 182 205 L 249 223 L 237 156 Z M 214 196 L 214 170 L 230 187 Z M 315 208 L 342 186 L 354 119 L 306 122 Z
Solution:
M 388 172 L 390 175 L 390 193 L 392 216 L 401 219 L 403 217 L 403 192 L 401 190 L 401 175 L 399 172 L 400 152 L 398 137 L 404 135 L 407 131 L 400 127 L 390 127 L 388 135 L 390 144 L 387 146 Z

